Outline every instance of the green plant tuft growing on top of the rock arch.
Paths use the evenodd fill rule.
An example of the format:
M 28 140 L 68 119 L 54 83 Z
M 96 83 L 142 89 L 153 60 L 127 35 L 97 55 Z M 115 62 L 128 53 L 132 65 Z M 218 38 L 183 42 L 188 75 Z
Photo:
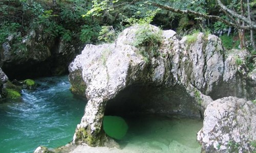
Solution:
M 162 44 L 162 31 L 156 31 L 149 24 L 139 24 L 135 33 L 133 45 L 141 49 L 143 57 L 149 59 L 160 55 L 158 52 Z

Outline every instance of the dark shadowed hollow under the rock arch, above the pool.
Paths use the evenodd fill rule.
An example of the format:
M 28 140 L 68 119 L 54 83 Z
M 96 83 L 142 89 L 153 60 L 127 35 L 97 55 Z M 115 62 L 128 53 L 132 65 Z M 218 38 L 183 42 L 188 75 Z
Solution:
M 199 106 L 182 86 L 161 88 L 135 84 L 110 99 L 104 115 L 184 115 L 200 117 Z

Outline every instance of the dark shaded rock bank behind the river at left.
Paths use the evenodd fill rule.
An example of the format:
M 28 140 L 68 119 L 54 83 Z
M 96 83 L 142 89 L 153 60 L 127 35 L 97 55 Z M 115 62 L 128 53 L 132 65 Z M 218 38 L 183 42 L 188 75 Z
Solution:
M 67 72 L 74 59 L 75 42 L 65 42 L 44 33 L 44 27 L 31 30 L 27 35 L 10 35 L 0 46 L 0 66 L 10 80 Z M 17 41 L 17 39 L 22 41 Z M 77 49 L 78 50 L 78 49 Z

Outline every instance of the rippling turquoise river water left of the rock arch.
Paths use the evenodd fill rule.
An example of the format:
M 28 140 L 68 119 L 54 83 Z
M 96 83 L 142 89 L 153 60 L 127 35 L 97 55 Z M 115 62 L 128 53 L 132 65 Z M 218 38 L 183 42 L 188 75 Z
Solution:
M 0 152 L 33 152 L 39 145 L 55 148 L 73 139 L 86 101 L 70 93 L 68 77 L 36 80 L 35 91 L 21 100 L 0 102 Z

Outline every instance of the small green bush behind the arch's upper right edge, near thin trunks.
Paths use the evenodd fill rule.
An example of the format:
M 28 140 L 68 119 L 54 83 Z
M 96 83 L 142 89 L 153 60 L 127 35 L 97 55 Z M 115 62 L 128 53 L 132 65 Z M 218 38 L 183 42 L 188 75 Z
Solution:
M 239 40 L 233 40 L 233 36 L 227 36 L 227 35 L 223 35 L 220 36 L 221 40 L 222 40 L 222 45 L 227 49 L 230 50 L 232 48 L 238 48 L 238 45 L 240 43 Z

